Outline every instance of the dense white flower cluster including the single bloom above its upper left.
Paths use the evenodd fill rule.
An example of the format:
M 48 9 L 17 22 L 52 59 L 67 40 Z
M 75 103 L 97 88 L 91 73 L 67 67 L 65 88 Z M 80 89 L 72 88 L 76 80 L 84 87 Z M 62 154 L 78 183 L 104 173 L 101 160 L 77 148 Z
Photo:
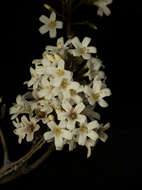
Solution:
M 54 12 L 50 18 L 41 16 L 40 21 L 44 23 L 40 32 L 49 31 L 51 38 L 56 37 L 56 28 L 62 28 Z M 78 37 L 64 42 L 61 37 L 56 46 L 46 46 L 41 59 L 33 60 L 31 79 L 25 82 L 29 91 L 18 95 L 10 108 L 19 143 L 23 139 L 31 142 L 42 133 L 48 143 L 54 142 L 56 150 L 68 144 L 72 151 L 78 144 L 86 146 L 89 157 L 98 139 L 107 140 L 105 130 L 110 125 L 99 123 L 100 115 L 95 107 L 97 104 L 107 107 L 104 98 L 110 96 L 111 91 L 106 87 L 105 73 L 100 70 L 102 61 L 93 56 L 97 49 L 89 46 L 90 43 L 89 37 L 82 42 Z M 77 80 L 75 75 L 79 74 L 73 68 L 78 68 L 80 60 L 87 70 Z M 81 83 L 84 76 L 88 79 L 86 84 Z

